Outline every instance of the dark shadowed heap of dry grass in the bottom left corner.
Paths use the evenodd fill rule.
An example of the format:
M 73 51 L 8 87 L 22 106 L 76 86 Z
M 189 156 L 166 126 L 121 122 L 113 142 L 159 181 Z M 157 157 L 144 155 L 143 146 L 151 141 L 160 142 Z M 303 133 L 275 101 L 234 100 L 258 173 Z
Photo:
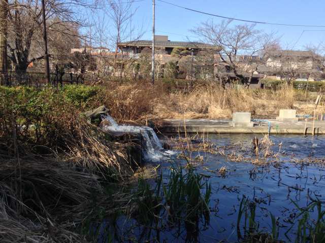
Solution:
M 101 193 L 96 177 L 31 154 L 0 166 L 0 242 L 85 242 L 57 216 Z

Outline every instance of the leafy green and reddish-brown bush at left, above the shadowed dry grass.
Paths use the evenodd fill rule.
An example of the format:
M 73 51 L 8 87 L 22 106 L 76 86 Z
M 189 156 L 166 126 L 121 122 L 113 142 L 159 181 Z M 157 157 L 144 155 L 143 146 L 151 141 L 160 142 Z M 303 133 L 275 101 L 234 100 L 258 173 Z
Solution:
M 76 106 L 62 89 L 0 87 L 2 142 L 13 142 L 16 136 L 19 144 L 64 147 L 62 141 L 74 130 L 77 118 Z

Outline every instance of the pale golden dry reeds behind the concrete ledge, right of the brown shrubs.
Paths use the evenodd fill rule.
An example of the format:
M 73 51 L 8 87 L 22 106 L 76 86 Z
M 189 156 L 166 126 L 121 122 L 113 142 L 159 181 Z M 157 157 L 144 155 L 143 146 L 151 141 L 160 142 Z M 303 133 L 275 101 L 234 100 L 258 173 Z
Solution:
M 229 118 L 234 111 L 248 111 L 255 116 L 269 116 L 281 108 L 292 108 L 294 102 L 295 91 L 287 86 L 271 91 L 206 85 L 195 87 L 190 93 L 156 98 L 153 114 L 159 118 Z

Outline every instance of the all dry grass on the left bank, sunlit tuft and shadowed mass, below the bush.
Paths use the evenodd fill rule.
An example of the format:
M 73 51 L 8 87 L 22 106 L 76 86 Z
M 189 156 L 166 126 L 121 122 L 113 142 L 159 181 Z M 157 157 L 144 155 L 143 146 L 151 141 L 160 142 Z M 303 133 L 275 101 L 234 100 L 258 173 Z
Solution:
M 94 197 L 105 203 L 101 182 L 133 174 L 126 151 L 133 145 L 105 136 L 79 120 L 61 141 L 64 153 L 46 148 L 52 153 L 31 154 L 18 141 L 13 142 L 15 155 L 0 153 L 1 242 L 82 242 L 83 236 L 69 229 L 81 227 Z

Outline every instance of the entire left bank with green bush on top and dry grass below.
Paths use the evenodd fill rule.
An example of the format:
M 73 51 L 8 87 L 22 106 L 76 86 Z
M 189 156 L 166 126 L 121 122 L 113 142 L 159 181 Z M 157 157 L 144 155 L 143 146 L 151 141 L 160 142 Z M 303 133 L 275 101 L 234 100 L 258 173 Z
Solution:
M 85 207 L 136 169 L 134 146 L 80 114 L 97 87 L 0 87 L 0 241 L 89 242 Z

